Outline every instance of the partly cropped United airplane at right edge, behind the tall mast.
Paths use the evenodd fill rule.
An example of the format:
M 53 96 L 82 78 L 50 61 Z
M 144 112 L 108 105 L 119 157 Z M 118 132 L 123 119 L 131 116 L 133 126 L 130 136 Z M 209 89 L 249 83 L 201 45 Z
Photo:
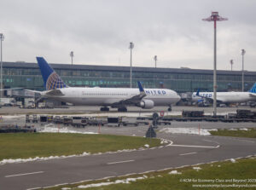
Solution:
M 247 92 L 217 92 L 216 100 L 218 104 L 242 103 L 247 101 L 256 101 L 256 83 L 253 84 L 252 89 Z M 192 94 L 192 101 L 213 101 L 213 92 L 194 92 Z

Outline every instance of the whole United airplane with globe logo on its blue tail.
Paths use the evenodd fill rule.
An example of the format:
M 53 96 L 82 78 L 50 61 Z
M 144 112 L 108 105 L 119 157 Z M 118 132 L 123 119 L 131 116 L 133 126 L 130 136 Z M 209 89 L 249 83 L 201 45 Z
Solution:
M 43 57 L 37 57 L 37 60 L 46 90 L 30 91 L 39 93 L 41 98 L 80 106 L 101 106 L 102 112 L 108 112 L 109 107 L 118 108 L 118 112 L 127 112 L 127 107 L 151 109 L 158 106 L 167 106 L 168 111 L 172 111 L 172 105 L 180 100 L 172 89 L 143 89 L 140 82 L 138 89 L 70 87 Z

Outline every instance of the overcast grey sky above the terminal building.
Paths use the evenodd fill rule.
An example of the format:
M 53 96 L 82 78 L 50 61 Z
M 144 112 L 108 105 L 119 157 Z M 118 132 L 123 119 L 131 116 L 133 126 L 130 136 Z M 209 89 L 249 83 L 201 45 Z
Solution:
M 213 23 L 218 11 L 218 69 L 256 71 L 255 0 L 0 0 L 3 61 L 198 69 L 213 67 Z

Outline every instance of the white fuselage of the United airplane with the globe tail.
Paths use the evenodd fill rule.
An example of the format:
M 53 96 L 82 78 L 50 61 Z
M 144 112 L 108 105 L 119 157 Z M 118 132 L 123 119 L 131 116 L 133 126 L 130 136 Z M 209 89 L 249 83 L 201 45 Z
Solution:
M 63 95 L 42 95 L 58 101 L 84 106 L 111 106 L 111 104 L 139 95 L 139 89 L 123 88 L 77 88 L 60 89 Z M 143 100 L 154 101 L 154 106 L 171 106 L 180 96 L 171 89 L 144 89 L 147 96 Z

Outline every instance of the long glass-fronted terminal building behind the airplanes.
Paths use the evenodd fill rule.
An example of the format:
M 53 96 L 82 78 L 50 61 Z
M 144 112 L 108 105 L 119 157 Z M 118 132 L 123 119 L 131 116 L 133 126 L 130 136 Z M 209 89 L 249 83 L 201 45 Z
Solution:
M 49 63 L 50 64 L 50 63 Z M 50 64 L 69 86 L 130 88 L 130 66 Z M 178 93 L 212 91 L 212 70 L 132 67 L 132 87 L 173 89 Z M 256 72 L 244 72 L 244 89 L 256 82 Z M 217 71 L 218 91 L 241 91 L 241 71 Z M 3 88 L 44 90 L 37 63 L 3 62 Z

